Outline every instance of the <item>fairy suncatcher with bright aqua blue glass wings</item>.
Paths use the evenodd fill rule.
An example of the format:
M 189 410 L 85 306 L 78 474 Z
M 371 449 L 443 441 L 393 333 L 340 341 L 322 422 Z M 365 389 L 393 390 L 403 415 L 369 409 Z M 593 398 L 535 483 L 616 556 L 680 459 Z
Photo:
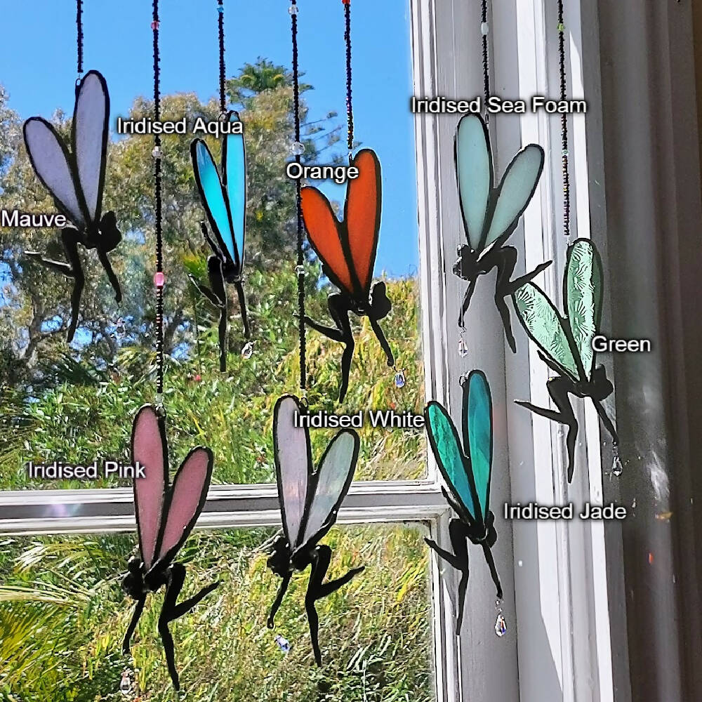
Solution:
M 227 120 L 238 122 L 239 114 L 233 110 Z M 246 234 L 246 150 L 244 135 L 227 134 L 222 145 L 222 177 L 217 171 L 206 143 L 196 139 L 190 145 L 195 183 L 212 236 L 207 225 L 201 223 L 202 234 L 212 249 L 207 259 L 207 276 L 210 287 L 190 280 L 197 289 L 220 310 L 219 345 L 220 370 L 227 369 L 227 283 L 233 284 L 239 296 L 239 309 L 244 322 L 244 336 L 249 338 L 249 316 L 244 296 L 244 241 Z

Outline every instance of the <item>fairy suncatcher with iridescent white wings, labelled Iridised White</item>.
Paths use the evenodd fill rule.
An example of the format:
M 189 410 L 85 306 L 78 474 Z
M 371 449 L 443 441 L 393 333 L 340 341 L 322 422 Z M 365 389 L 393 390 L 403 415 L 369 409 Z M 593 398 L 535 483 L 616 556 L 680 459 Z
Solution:
M 319 543 L 336 523 L 356 470 L 360 442 L 355 430 L 341 430 L 331 439 L 319 468 L 314 470 L 310 432 L 306 427 L 296 426 L 296 417 L 303 412 L 299 400 L 292 395 L 279 398 L 273 411 L 273 450 L 283 534 L 273 544 L 268 567 L 283 581 L 271 607 L 268 626 L 273 627 L 293 572 L 310 566 L 305 611 L 314 660 L 322 665 L 315 603 L 336 592 L 364 569 L 363 566 L 353 568 L 344 576 L 325 583 L 331 548 Z

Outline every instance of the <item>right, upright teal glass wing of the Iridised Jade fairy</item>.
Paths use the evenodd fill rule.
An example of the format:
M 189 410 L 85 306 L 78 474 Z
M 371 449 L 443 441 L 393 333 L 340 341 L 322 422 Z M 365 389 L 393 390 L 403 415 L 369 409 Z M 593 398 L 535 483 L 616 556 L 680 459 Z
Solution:
M 470 468 L 483 518 L 490 505 L 492 472 L 492 399 L 482 371 L 472 371 L 463 399 L 463 444 L 470 450 Z

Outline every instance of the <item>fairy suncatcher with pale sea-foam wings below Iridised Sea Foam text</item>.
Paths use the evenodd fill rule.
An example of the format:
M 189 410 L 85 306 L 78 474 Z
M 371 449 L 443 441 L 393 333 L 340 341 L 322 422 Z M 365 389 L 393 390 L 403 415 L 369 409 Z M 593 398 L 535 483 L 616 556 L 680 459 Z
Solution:
M 456 178 L 468 244 L 458 248 L 453 272 L 468 281 L 458 324 L 463 318 L 481 275 L 497 269 L 495 304 L 502 317 L 512 351 L 517 350 L 510 310 L 505 302 L 519 286 L 550 265 L 542 263 L 531 273 L 511 280 L 517 265 L 517 249 L 504 246 L 519 218 L 527 209 L 543 171 L 543 149 L 537 144 L 524 147 L 507 167 L 499 185 L 494 185 L 494 164 L 487 126 L 477 114 L 466 114 L 456 130 Z

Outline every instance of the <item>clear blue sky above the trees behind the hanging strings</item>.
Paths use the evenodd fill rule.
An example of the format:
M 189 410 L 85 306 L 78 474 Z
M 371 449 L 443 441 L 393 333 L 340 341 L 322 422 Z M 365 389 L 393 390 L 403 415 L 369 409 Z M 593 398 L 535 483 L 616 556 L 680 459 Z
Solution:
M 310 119 L 336 110 L 345 125 L 345 55 L 340 0 L 298 0 L 300 67 Z M 8 4 L 0 41 L 0 82 L 21 117 L 72 112 L 76 78 L 74 0 Z M 152 4 L 84 0 L 85 69 L 107 79 L 112 120 L 137 95 L 152 95 Z M 161 0 L 161 89 L 217 91 L 216 0 Z M 357 139 L 383 166 L 383 220 L 376 274 L 416 271 L 416 168 L 408 0 L 352 0 L 354 109 Z M 227 75 L 263 56 L 291 65 L 287 0 L 225 0 Z M 343 187 L 324 185 L 343 199 Z

